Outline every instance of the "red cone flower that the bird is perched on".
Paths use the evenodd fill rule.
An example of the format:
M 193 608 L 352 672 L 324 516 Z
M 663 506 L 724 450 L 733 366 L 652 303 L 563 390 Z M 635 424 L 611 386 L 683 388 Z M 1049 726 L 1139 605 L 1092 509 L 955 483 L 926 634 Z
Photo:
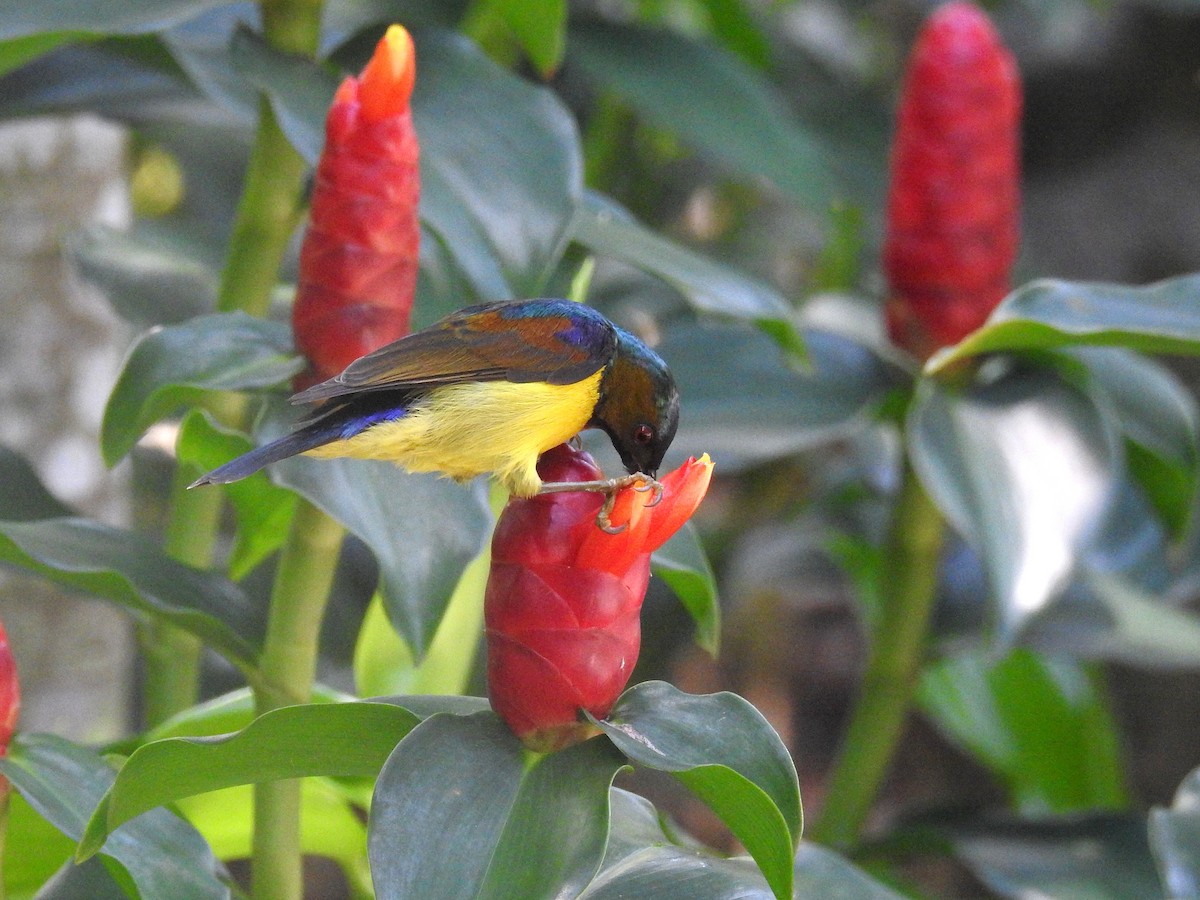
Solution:
M 542 455 L 547 481 L 602 478 L 592 457 L 565 444 Z M 689 460 L 665 475 L 662 499 L 626 488 L 607 534 L 602 498 L 568 492 L 512 499 L 492 538 L 484 614 L 492 708 L 533 750 L 559 750 L 596 733 L 582 719 L 608 714 L 641 647 L 640 613 L 650 553 L 696 511 L 713 463 Z

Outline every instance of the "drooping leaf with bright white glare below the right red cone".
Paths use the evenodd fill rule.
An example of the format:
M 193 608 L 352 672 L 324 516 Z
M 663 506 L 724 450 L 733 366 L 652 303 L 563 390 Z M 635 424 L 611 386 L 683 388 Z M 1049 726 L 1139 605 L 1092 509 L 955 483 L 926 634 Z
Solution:
M 1069 583 L 1122 464 L 1110 424 L 1048 368 L 1015 365 L 961 392 L 923 382 L 907 422 L 925 488 L 984 563 L 1001 641 Z

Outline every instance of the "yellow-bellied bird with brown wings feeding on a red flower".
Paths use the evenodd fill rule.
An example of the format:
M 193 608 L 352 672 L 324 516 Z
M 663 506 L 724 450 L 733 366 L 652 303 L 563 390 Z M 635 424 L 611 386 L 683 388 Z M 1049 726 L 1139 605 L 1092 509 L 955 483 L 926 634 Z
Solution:
M 571 300 L 479 304 L 359 358 L 292 397 L 314 404 L 289 434 L 251 450 L 190 487 L 238 481 L 305 454 L 386 460 L 458 481 L 493 474 L 515 497 L 606 494 L 634 486 L 661 497 L 658 470 L 679 422 L 666 362 L 596 310 Z M 626 475 L 544 482 L 538 457 L 600 428 Z

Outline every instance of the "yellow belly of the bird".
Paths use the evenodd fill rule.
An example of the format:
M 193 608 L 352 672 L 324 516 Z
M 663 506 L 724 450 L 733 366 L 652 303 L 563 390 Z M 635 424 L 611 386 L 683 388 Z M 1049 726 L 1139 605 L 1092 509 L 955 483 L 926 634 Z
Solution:
M 454 479 L 496 473 L 518 497 L 541 487 L 538 456 L 592 418 L 601 372 L 575 384 L 473 382 L 437 388 L 402 419 L 372 425 L 308 456 L 388 460 Z

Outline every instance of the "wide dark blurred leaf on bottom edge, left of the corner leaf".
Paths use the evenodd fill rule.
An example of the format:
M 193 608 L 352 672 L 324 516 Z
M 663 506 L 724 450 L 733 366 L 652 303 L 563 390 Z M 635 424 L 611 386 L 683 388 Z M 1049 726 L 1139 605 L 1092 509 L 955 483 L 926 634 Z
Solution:
M 1014 822 L 950 836 L 955 854 L 1006 900 L 1163 896 L 1141 816 Z

